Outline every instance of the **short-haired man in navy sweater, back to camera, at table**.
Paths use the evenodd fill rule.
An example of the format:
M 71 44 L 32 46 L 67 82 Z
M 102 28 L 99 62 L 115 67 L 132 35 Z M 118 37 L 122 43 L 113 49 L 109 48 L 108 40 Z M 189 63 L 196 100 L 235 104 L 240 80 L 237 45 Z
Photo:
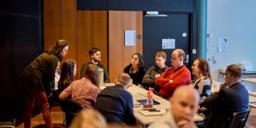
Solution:
M 108 123 L 134 125 L 132 95 L 127 91 L 131 78 L 127 73 L 119 75 L 116 85 L 106 87 L 99 93 L 95 109 L 101 112 Z

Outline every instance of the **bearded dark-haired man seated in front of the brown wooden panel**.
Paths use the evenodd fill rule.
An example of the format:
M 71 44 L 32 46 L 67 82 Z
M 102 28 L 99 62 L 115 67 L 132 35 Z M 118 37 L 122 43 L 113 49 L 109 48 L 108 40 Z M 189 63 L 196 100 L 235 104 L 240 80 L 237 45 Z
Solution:
M 88 63 L 84 63 L 82 65 L 82 68 L 80 70 L 80 74 L 81 74 L 81 78 L 84 77 L 84 73 L 85 70 L 87 70 L 87 67 L 90 63 L 97 65 L 99 67 L 99 70 L 103 70 L 104 73 L 104 82 L 110 82 L 109 80 L 109 75 L 107 73 L 107 69 L 104 68 L 104 65 L 100 64 L 99 62 L 102 60 L 101 57 L 101 52 L 99 48 L 92 48 L 91 50 L 89 50 L 89 56 L 91 58 L 91 61 L 89 61 Z

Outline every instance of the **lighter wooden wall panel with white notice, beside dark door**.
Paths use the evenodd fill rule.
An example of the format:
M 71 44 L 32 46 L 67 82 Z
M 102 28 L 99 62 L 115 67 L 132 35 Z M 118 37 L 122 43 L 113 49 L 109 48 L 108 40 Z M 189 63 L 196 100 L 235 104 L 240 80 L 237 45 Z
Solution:
M 109 77 L 112 82 L 131 63 L 132 54 L 142 53 L 142 39 L 136 46 L 124 46 L 124 31 L 142 35 L 142 11 L 109 11 Z

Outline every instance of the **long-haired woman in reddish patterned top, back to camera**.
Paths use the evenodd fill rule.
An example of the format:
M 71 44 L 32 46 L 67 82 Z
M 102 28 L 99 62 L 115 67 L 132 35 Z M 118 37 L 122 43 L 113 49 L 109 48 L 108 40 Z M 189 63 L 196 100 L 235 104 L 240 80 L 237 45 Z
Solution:
M 99 68 L 97 65 L 89 64 L 85 70 L 84 77 L 75 80 L 69 87 L 61 92 L 59 100 L 66 100 L 72 97 L 84 108 L 92 108 L 99 94 Z

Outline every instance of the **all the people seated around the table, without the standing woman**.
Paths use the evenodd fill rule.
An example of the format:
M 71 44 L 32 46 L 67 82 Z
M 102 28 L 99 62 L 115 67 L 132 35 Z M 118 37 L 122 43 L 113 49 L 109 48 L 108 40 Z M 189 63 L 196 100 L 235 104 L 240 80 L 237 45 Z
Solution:
M 104 65 L 100 64 L 99 48 L 89 50 L 91 61 L 84 63 L 81 78 L 74 80 L 77 65 L 74 60 L 67 59 L 61 67 L 59 82 L 54 90 L 59 100 L 71 98 L 87 109 L 99 111 L 108 123 L 134 125 L 132 95 L 127 91 L 130 81 L 148 89 L 159 88 L 157 95 L 169 99 L 172 109 L 162 120 L 154 122 L 149 127 L 159 124 L 165 127 L 196 127 L 192 118 L 199 105 L 211 110 L 211 120 L 208 127 L 227 127 L 232 112 L 247 110 L 248 92 L 240 82 L 242 70 L 237 65 L 227 66 L 225 82 L 220 91 L 212 94 L 212 78 L 207 60 L 197 58 L 192 65 L 192 75 L 184 65 L 185 53 L 182 49 L 172 52 L 172 67 L 165 65 L 167 54 L 159 51 L 155 55 L 155 64 L 148 70 L 144 67 L 141 53 L 134 53 L 132 61 L 124 68 L 115 81 L 115 86 L 99 90 L 99 70 L 104 71 L 104 82 L 110 82 Z M 56 70 L 59 73 L 59 70 Z M 56 75 L 57 77 L 57 75 Z M 58 78 L 58 77 L 57 77 Z M 200 98 L 203 102 L 199 104 Z

